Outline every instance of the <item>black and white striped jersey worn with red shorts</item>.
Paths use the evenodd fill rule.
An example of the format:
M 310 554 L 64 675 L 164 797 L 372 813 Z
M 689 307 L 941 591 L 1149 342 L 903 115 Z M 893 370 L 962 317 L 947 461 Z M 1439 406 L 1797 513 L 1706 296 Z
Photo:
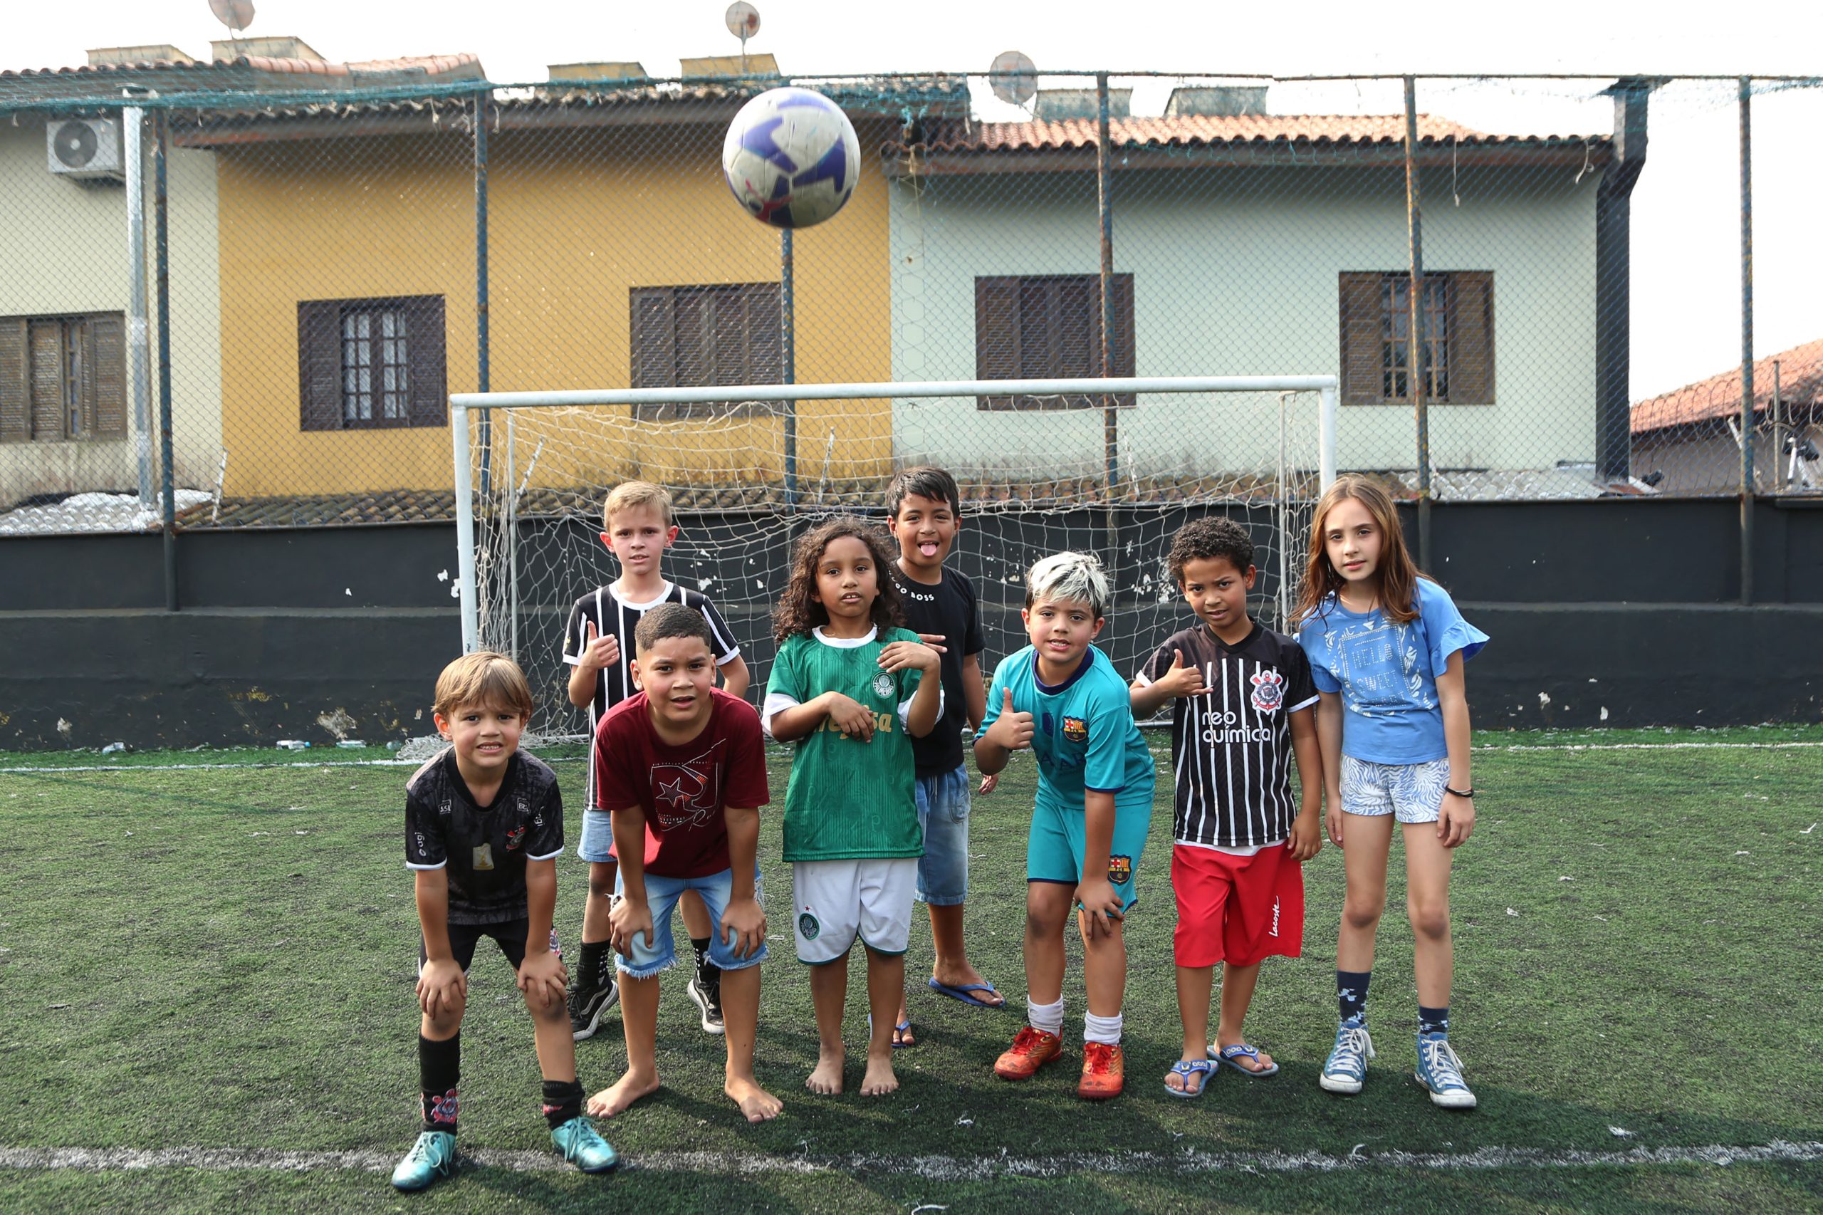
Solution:
M 1209 693 L 1170 702 L 1178 799 L 1172 837 L 1256 850 L 1291 836 L 1291 715 L 1316 704 L 1311 662 L 1293 639 L 1254 624 L 1238 646 L 1198 624 L 1159 646 L 1138 680 L 1170 671 L 1172 653 L 1203 671 Z

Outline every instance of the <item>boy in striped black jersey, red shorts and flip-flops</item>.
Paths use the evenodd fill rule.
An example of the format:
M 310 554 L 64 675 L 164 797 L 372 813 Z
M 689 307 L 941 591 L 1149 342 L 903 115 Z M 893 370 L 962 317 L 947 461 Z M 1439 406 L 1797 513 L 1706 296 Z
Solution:
M 1322 848 L 1316 684 L 1298 642 L 1247 613 L 1258 576 L 1252 556 L 1252 540 L 1231 520 L 1178 529 L 1167 566 L 1198 624 L 1147 659 L 1130 693 L 1139 719 L 1172 704 L 1172 943 L 1183 1018 L 1183 1056 L 1165 1076 L 1172 1096 L 1201 1096 L 1221 1064 L 1249 1076 L 1278 1071 L 1271 1054 L 1247 1044 L 1241 1022 L 1260 961 L 1296 958 L 1303 949 L 1300 867 Z M 1221 1016 L 1210 1044 L 1218 961 L 1225 963 Z

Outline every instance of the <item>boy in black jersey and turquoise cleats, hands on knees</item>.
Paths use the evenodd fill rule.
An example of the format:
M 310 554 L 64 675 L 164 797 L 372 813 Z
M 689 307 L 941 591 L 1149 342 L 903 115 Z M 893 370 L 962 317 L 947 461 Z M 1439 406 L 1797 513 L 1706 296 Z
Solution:
M 425 1129 L 392 1171 L 423 1189 L 456 1169 L 461 1016 L 469 963 L 492 938 L 518 972 L 532 1014 L 543 1113 L 558 1153 L 583 1173 L 618 1164 L 582 1113 L 576 1044 L 563 1007 L 563 961 L 551 930 L 563 852 L 556 775 L 520 753 L 532 693 L 501 653 L 469 653 L 438 677 L 438 732 L 450 741 L 405 786 L 405 863 L 417 887 L 417 1071 Z

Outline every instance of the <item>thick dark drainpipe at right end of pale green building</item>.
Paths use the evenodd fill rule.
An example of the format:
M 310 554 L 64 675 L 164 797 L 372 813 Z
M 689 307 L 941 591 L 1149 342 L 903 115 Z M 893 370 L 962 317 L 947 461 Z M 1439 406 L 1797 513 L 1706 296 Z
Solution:
M 1652 80 L 1613 88 L 1613 159 L 1595 186 L 1595 474 L 1624 482 L 1633 471 L 1632 254 L 1633 184 L 1646 168 L 1646 99 Z

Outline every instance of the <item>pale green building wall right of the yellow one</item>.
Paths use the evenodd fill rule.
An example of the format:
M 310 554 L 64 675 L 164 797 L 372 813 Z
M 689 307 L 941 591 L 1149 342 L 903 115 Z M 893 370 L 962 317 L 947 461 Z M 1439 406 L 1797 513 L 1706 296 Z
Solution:
M 1427 270 L 1493 270 L 1495 403 L 1431 410 L 1438 467 L 1539 469 L 1595 451 L 1595 192 L 1571 170 L 1426 173 Z M 1453 193 L 1460 195 L 1460 204 Z M 1085 173 L 935 177 L 891 190 L 893 376 L 975 374 L 975 275 L 1096 274 Z M 1409 265 L 1396 168 L 1114 175 L 1114 268 L 1134 275 L 1141 376 L 1334 374 L 1344 270 Z M 1314 398 L 1293 451 L 1314 460 Z M 1121 414 L 1136 472 L 1269 469 L 1272 398 L 1141 398 Z M 1092 472 L 1101 410 L 981 414 L 972 400 L 895 409 L 902 458 Z M 1344 407 L 1345 469 L 1415 467 L 1411 409 Z

